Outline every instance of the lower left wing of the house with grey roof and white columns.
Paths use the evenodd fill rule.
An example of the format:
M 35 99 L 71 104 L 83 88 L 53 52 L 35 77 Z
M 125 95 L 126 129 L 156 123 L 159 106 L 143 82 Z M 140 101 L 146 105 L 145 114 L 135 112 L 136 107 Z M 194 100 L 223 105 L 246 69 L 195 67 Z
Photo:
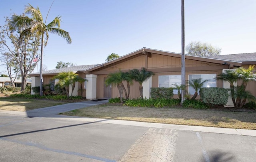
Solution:
M 73 66 L 73 67 L 64 67 L 60 69 L 53 69 L 53 70 L 47 70 L 43 71 L 43 83 L 44 84 L 49 84 L 52 83 L 52 86 L 50 87 L 52 91 L 54 91 L 54 85 L 58 83 L 58 79 L 53 79 L 55 75 L 58 75 L 58 73 L 62 72 L 73 72 L 77 73 L 80 77 L 85 78 L 85 74 L 83 73 L 84 70 L 92 68 L 96 65 L 80 65 L 80 66 Z M 31 73 L 29 76 L 32 79 L 32 85 L 31 87 L 37 87 L 40 86 L 40 72 L 37 73 Z M 85 89 L 86 83 L 82 85 L 83 89 Z M 78 91 L 80 88 L 80 83 L 76 83 L 76 87 L 73 92 L 73 96 L 81 95 L 81 92 Z M 71 88 L 70 88 L 71 89 Z M 33 94 L 33 92 L 31 92 Z M 47 92 L 44 92 L 47 93 Z M 71 91 L 70 91 L 71 95 Z M 86 97 L 86 93 L 83 93 L 83 97 Z

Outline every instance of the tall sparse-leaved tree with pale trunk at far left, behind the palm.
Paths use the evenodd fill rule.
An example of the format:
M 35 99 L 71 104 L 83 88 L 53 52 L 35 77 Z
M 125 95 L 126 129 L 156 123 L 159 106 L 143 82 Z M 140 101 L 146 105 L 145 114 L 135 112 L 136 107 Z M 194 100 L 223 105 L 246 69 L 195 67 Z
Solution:
M 23 16 L 12 15 L 12 17 Z M 24 91 L 28 73 L 33 71 L 37 63 L 34 63 L 33 59 L 37 55 L 40 38 L 36 36 L 36 32 L 30 32 L 21 38 L 20 33 L 25 28 L 29 28 L 31 24 L 16 26 L 15 30 L 13 30 L 12 26 L 10 26 L 11 22 L 12 19 L 6 17 L 5 25 L 0 27 L 0 47 L 3 51 L 2 58 L 6 60 L 4 62 L 9 71 L 10 69 L 14 69 L 14 75 L 20 71 L 22 80 L 21 91 Z

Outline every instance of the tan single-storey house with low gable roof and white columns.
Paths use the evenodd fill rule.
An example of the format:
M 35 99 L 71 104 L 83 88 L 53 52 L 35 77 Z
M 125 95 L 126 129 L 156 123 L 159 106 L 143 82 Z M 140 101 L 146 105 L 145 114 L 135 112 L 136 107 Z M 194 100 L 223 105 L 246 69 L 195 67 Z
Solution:
M 205 87 L 225 87 L 225 83 L 214 79 L 217 75 L 226 69 L 234 69 L 241 66 L 248 67 L 250 64 L 256 64 L 255 59 L 256 53 L 219 55 L 214 57 L 186 55 L 186 80 L 202 78 L 202 80 L 208 80 L 204 84 Z M 155 73 L 153 77 L 143 83 L 143 96 L 146 98 L 150 97 L 151 87 L 172 87 L 174 83 L 181 84 L 181 54 L 145 47 L 100 65 L 85 65 L 81 67 L 79 70 L 69 71 L 76 71 L 81 77 L 86 77 L 88 80 L 86 82 L 86 95 L 84 95 L 87 99 L 119 97 L 118 89 L 116 87 L 106 86 L 104 82 L 108 74 L 116 73 L 120 69 L 122 71 L 128 71 L 130 69 L 141 69 L 144 67 L 148 71 Z M 54 75 L 63 71 L 67 72 L 67 70 L 63 68 L 44 71 L 43 77 L 45 83 L 50 83 Z M 38 75 L 39 73 L 30 74 L 32 79 L 36 79 Z M 39 86 L 38 81 L 39 78 L 35 86 Z M 126 84 L 124 85 L 126 87 Z M 255 82 L 250 82 L 247 88 L 254 96 L 256 96 L 255 85 Z M 134 84 L 130 88 L 130 99 L 137 99 L 139 97 L 139 84 L 134 81 Z M 192 87 L 188 86 L 187 91 L 192 95 L 194 94 Z M 177 92 L 174 91 L 174 94 L 177 94 Z M 174 97 L 177 97 L 177 95 L 174 95 Z

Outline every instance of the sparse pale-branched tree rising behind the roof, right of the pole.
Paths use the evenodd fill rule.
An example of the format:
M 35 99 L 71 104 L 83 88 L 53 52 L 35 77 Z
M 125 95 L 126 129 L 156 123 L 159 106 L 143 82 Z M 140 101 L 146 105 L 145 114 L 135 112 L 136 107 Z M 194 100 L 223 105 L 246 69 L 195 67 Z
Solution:
M 192 41 L 186 46 L 186 52 L 188 55 L 208 57 L 219 55 L 221 49 L 213 47 L 208 43 L 201 43 L 200 41 Z

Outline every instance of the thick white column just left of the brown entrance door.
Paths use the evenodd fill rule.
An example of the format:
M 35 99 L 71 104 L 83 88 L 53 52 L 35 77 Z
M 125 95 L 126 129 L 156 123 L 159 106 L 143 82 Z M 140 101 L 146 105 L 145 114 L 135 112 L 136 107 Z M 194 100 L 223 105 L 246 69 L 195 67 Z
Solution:
M 86 99 L 96 99 L 97 75 L 86 74 Z

